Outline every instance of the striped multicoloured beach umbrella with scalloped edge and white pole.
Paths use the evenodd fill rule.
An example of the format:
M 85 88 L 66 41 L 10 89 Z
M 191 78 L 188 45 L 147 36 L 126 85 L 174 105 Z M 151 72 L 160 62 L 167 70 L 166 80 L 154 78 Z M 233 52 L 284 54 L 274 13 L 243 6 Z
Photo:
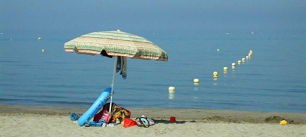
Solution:
M 168 54 L 151 41 L 120 30 L 88 33 L 65 43 L 64 48 L 67 52 L 75 51 L 77 54 L 100 54 L 106 57 L 115 57 L 110 105 L 113 98 L 117 56 L 168 61 Z

